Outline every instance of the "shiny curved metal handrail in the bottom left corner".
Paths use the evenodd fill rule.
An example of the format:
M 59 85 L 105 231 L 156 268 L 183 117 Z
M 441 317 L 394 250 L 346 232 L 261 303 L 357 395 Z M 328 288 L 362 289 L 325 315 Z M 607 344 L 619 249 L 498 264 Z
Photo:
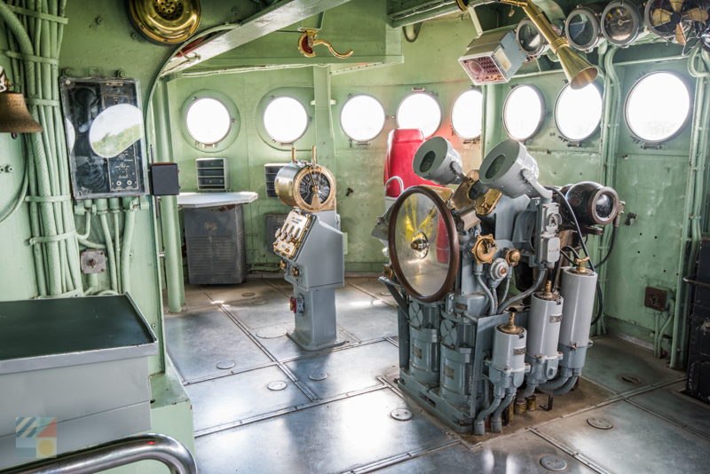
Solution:
M 171 474 L 197 474 L 193 454 L 185 445 L 170 436 L 153 433 L 115 439 L 56 458 L 30 462 L 3 470 L 2 474 L 92 474 L 145 460 L 162 462 Z

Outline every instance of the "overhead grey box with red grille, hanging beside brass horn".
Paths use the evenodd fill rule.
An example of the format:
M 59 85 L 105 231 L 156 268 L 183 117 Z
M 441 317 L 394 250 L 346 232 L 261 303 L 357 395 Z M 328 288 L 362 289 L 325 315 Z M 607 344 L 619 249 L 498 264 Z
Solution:
M 476 85 L 507 83 L 525 62 L 514 30 L 492 31 L 469 44 L 459 63 Z

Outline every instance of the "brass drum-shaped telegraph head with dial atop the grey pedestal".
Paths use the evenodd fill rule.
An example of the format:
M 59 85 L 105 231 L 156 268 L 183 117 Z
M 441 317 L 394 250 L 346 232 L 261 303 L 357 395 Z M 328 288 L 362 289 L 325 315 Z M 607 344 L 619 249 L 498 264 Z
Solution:
M 335 209 L 335 178 L 319 164 L 288 163 L 276 176 L 274 187 L 279 199 L 292 208 L 307 212 Z

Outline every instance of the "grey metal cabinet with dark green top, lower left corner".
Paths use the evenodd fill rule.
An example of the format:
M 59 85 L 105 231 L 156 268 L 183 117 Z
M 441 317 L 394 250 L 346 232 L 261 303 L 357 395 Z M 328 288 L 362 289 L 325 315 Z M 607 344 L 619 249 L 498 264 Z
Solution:
M 56 454 L 151 430 L 147 358 L 157 353 L 130 296 L 0 302 L 0 470 L 39 452 L 21 430 L 33 423 L 53 425 L 36 438 Z

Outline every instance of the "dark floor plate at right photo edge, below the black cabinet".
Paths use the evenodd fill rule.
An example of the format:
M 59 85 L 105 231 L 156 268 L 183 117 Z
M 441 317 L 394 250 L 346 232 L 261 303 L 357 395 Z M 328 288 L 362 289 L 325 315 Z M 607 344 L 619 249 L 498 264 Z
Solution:
M 681 393 L 685 382 L 636 395 L 638 405 L 710 438 L 710 405 Z

